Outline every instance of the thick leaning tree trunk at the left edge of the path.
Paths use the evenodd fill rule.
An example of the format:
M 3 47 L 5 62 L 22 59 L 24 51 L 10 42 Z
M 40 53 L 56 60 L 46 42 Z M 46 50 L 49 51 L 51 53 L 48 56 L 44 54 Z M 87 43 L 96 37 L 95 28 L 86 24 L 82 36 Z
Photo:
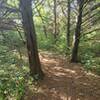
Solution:
M 27 51 L 30 65 L 30 73 L 32 77 L 43 78 L 43 72 L 41 70 L 40 59 L 38 56 L 36 31 L 32 16 L 32 0 L 20 0 L 20 9 L 22 15 L 22 24 L 27 41 Z

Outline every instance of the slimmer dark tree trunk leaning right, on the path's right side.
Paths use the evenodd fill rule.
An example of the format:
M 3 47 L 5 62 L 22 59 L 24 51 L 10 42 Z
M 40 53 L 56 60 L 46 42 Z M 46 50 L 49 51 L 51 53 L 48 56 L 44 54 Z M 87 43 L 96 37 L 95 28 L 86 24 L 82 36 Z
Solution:
M 77 17 L 77 24 L 76 24 L 76 30 L 75 30 L 75 42 L 74 42 L 74 47 L 72 50 L 71 62 L 78 62 L 78 47 L 79 47 L 79 42 L 80 42 L 83 5 L 84 5 L 84 0 L 79 2 L 79 15 Z

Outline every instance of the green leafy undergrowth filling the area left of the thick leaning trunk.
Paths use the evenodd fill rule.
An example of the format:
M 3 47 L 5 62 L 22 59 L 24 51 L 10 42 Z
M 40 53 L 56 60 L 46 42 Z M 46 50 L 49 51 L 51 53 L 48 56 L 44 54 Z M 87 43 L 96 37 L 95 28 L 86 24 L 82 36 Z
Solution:
M 0 100 L 20 100 L 25 90 L 24 76 L 29 70 L 19 55 L 22 43 L 18 34 L 4 34 L 0 39 Z

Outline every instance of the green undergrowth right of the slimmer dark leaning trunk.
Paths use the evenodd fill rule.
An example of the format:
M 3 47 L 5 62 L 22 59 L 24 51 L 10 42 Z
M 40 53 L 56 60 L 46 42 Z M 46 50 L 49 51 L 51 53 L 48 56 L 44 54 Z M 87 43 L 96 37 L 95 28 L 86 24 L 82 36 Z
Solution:
M 100 45 L 98 42 L 92 42 L 81 43 L 79 57 L 87 71 L 100 75 Z

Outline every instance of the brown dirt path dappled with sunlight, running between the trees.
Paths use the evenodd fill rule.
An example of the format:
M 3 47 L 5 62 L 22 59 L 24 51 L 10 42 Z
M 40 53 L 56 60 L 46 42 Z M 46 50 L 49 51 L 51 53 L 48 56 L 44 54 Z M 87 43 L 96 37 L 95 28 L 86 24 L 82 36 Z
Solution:
M 43 53 L 40 58 L 44 80 L 36 92 L 27 87 L 24 100 L 100 100 L 99 76 L 61 56 Z

